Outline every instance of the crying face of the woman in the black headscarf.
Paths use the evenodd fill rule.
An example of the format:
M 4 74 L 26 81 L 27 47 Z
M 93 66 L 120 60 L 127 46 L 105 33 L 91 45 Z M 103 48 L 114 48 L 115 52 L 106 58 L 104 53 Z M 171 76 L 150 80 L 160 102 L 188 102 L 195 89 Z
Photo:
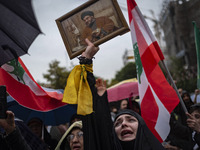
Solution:
M 136 138 L 138 120 L 134 116 L 123 114 L 117 118 L 114 127 L 121 141 L 131 141 Z

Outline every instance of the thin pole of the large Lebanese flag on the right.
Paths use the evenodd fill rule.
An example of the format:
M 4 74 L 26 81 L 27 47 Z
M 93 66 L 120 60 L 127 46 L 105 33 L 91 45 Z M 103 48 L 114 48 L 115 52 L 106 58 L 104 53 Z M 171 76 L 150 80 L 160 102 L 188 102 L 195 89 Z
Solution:
M 170 72 L 169 72 L 167 66 L 165 65 L 165 63 L 164 63 L 163 60 L 161 60 L 161 63 L 162 63 L 162 65 L 163 65 L 163 67 L 164 67 L 164 69 L 165 69 L 167 75 L 169 76 L 169 80 L 170 80 L 170 82 L 172 83 L 172 86 L 174 87 L 174 89 L 175 89 L 175 91 L 176 91 L 176 94 L 178 95 L 178 98 L 179 98 L 179 100 L 180 100 L 180 103 L 181 103 L 181 106 L 182 106 L 184 112 L 185 112 L 185 113 L 188 112 L 188 110 L 187 110 L 187 108 L 185 107 L 185 104 L 184 104 L 184 102 L 183 102 L 183 99 L 182 99 L 182 97 L 180 96 L 180 94 L 179 94 L 179 92 L 178 92 L 178 89 L 177 89 L 177 87 L 176 87 L 176 85 L 175 85 L 175 83 L 174 83 L 174 80 L 173 80 L 173 78 L 172 78 L 172 76 L 171 76 L 171 74 L 170 74 Z

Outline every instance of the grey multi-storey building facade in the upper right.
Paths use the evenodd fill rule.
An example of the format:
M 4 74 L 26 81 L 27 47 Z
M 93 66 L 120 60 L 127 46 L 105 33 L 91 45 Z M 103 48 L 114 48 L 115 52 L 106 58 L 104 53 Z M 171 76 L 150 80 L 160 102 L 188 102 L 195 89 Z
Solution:
M 168 68 L 170 57 L 183 60 L 186 69 L 196 71 L 197 56 L 194 39 L 195 21 L 200 27 L 200 0 L 165 0 L 160 14 L 159 23 L 164 32 L 166 42 Z

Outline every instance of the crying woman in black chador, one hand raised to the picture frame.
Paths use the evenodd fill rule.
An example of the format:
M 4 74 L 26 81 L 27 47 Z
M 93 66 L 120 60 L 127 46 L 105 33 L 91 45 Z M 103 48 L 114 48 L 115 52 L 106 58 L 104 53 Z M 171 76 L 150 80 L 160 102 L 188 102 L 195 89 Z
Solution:
M 88 47 L 82 54 L 82 56 L 85 57 L 85 64 L 86 62 L 92 63 L 91 59 L 98 51 L 98 47 L 95 47 L 89 40 L 86 40 L 86 42 Z M 159 143 L 147 128 L 141 116 L 132 110 L 124 110 L 124 112 L 117 114 L 114 122 L 115 128 L 120 127 L 121 129 L 114 130 L 108 105 L 106 82 L 103 82 L 101 79 L 97 79 L 95 82 L 93 73 L 90 71 L 87 71 L 87 80 L 93 96 L 93 112 L 82 118 L 85 150 L 164 149 L 161 143 Z M 120 123 L 120 120 L 122 120 L 120 118 L 123 117 L 123 115 L 129 115 L 133 117 L 135 121 L 128 119 L 128 123 L 126 120 Z M 134 125 L 135 122 L 137 122 L 136 126 Z M 119 124 L 119 126 L 116 124 Z M 134 129 L 133 126 L 135 127 Z M 123 137 L 127 137 L 127 139 L 124 140 Z M 133 147 L 125 148 L 123 143 L 129 143 Z

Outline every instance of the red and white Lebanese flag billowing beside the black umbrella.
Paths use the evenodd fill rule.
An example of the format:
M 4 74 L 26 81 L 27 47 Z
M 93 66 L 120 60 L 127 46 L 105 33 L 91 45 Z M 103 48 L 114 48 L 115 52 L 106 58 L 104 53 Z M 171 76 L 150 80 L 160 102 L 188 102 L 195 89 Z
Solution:
M 20 105 L 37 110 L 50 111 L 66 105 L 62 103 L 63 94 L 59 90 L 42 88 L 31 76 L 20 58 L 0 67 L 0 85 Z

